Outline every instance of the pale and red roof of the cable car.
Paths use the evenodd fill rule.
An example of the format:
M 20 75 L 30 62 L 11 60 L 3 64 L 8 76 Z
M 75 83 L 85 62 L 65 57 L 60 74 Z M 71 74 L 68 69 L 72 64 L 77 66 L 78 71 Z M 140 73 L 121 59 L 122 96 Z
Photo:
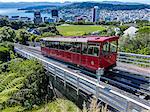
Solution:
M 118 40 L 119 37 L 117 36 L 108 36 L 108 37 L 101 37 L 101 36 L 74 36 L 74 37 L 46 37 L 42 38 L 43 41 L 53 41 L 53 42 L 111 42 L 114 40 Z

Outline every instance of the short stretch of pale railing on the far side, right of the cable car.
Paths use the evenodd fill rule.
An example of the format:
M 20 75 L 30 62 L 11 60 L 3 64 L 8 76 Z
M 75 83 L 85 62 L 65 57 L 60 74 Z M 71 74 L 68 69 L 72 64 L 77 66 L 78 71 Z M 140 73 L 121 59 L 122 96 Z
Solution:
M 131 63 L 131 64 L 136 64 L 144 67 L 150 67 L 150 55 L 119 52 L 117 60 L 119 62 Z

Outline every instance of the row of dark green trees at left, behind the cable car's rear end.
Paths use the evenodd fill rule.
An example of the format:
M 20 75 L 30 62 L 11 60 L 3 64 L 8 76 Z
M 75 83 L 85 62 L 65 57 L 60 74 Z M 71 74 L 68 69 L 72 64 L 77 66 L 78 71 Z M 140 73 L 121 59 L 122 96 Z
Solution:
M 27 41 L 39 41 L 40 38 L 57 36 L 59 32 L 56 27 L 39 27 L 38 28 L 40 35 L 29 33 L 26 29 L 14 30 L 11 27 L 2 27 L 0 28 L 0 42 L 19 42 L 20 44 L 27 44 Z

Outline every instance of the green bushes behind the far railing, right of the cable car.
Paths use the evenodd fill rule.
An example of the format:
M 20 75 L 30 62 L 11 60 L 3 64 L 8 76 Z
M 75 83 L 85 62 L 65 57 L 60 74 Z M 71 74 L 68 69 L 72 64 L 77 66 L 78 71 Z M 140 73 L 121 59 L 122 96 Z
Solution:
M 140 27 L 135 37 L 120 39 L 121 51 L 150 55 L 150 26 Z

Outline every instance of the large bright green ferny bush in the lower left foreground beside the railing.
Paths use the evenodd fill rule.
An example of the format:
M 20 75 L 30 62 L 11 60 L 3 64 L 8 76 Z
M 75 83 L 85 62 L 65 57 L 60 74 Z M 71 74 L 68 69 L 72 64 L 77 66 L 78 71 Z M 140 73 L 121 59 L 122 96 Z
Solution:
M 48 99 L 48 78 L 41 64 L 14 59 L 0 65 L 0 109 L 32 109 Z M 20 109 L 20 108 L 19 108 Z

